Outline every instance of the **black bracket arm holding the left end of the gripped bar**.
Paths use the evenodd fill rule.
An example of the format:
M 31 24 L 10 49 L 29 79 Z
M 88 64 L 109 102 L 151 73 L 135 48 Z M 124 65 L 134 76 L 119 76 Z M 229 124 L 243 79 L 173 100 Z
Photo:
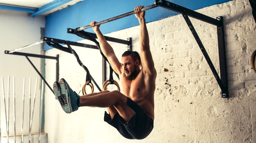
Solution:
M 75 29 L 68 28 L 68 33 L 74 34 L 74 30 Z M 84 31 L 84 32 L 86 32 L 86 31 Z M 92 38 L 97 38 L 97 35 L 95 33 L 91 33 L 91 32 L 86 32 L 86 33 L 89 34 Z M 110 42 L 115 42 L 115 43 L 120 43 L 120 44 L 125 44 L 125 45 L 131 44 L 131 42 L 127 41 L 127 40 L 122 40 L 122 39 L 108 37 L 108 36 L 104 36 L 104 38 L 106 39 L 106 41 L 110 41 Z

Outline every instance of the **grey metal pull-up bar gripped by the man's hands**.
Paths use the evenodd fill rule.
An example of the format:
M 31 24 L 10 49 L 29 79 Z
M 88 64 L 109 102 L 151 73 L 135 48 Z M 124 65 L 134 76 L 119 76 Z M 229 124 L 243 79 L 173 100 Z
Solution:
M 158 7 L 158 5 L 152 4 L 152 5 L 143 7 L 142 9 L 140 9 L 140 12 L 141 12 L 141 11 L 146 11 L 146 10 L 149 10 L 149 9 L 152 9 L 152 8 L 155 8 L 155 7 Z M 106 20 L 103 20 L 103 21 L 100 21 L 100 22 L 96 22 L 96 23 L 95 23 L 95 26 L 96 26 L 96 25 L 103 24 L 103 23 L 107 23 L 107 22 L 110 22 L 110 21 L 113 21 L 113 20 L 117 20 L 117 19 L 120 19 L 120 18 L 129 16 L 129 15 L 135 14 L 135 13 L 136 13 L 136 12 L 133 10 L 133 11 L 127 12 L 127 13 L 125 13 L 125 14 L 121 14 L 121 15 L 118 15 L 118 16 L 115 16 L 115 17 L 112 17 L 112 18 L 108 18 L 108 19 L 106 19 Z M 87 25 L 87 26 L 78 28 L 77 31 L 82 31 L 82 30 L 87 29 L 87 28 L 90 28 L 90 27 L 92 27 L 92 26 Z

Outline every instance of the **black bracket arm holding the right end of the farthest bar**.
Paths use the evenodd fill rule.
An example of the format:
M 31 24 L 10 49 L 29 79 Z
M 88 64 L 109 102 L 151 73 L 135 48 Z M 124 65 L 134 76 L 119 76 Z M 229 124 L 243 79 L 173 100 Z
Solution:
M 54 39 L 54 38 L 49 38 L 49 37 L 43 37 L 43 42 L 51 42 L 51 43 L 79 46 L 79 47 L 85 47 L 85 48 L 91 48 L 91 49 L 98 50 L 98 47 L 95 45 L 83 44 L 83 43 L 72 42 L 72 41 L 67 41 L 67 40 Z

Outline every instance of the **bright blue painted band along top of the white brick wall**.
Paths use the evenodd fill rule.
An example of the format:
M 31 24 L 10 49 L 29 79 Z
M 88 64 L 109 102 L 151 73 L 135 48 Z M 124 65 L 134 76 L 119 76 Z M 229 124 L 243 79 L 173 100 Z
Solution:
M 207 6 L 221 4 L 231 0 L 169 0 L 172 3 L 183 7 L 196 10 Z M 68 8 L 57 11 L 46 16 L 45 36 L 63 39 L 69 41 L 80 41 L 82 38 L 68 34 L 67 28 L 77 28 L 89 25 L 91 21 L 101 21 L 111 18 L 126 12 L 134 10 L 138 5 L 148 6 L 154 3 L 154 0 L 85 0 L 72 5 Z M 162 18 L 177 15 L 178 13 L 157 7 L 146 11 L 146 21 L 152 22 Z M 221 16 L 216 13 L 216 17 Z M 184 21 L 185 22 L 185 21 Z M 100 26 L 103 34 L 130 28 L 139 25 L 137 18 L 134 15 L 124 17 L 115 21 L 111 21 Z M 85 31 L 93 32 L 92 28 Z M 44 50 L 52 49 L 50 46 L 45 46 Z

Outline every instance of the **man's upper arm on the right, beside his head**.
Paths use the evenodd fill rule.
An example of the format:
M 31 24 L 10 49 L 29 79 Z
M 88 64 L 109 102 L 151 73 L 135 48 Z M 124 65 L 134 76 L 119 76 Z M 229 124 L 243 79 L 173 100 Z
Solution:
M 141 63 L 143 66 L 143 71 L 147 72 L 149 74 L 154 74 L 155 73 L 155 65 L 154 65 L 154 61 L 153 61 L 150 49 L 141 50 L 140 56 L 141 56 L 140 59 L 141 59 Z

